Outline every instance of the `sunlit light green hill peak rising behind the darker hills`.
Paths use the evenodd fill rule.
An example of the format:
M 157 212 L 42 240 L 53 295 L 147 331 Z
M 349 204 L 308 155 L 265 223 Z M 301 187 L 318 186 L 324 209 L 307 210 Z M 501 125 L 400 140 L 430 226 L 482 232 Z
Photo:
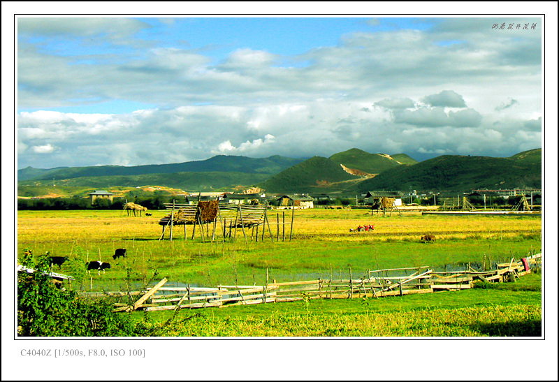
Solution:
M 387 154 L 370 154 L 361 149 L 349 149 L 344 152 L 339 152 L 333 154 L 330 159 L 347 168 L 361 170 L 370 174 L 379 174 L 380 172 L 389 170 L 389 168 L 401 166 L 401 163 L 398 163 L 398 161 Z

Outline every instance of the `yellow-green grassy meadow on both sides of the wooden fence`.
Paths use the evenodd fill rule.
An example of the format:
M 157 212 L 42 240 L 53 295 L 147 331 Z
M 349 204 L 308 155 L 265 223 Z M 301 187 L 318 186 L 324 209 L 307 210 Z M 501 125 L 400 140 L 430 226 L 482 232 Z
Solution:
M 498 262 L 541 251 L 541 216 L 371 216 L 367 210 L 296 210 L 293 237 L 263 242 L 236 237 L 201 242 L 191 240 L 187 226 L 175 226 L 174 240 L 159 241 L 157 221 L 166 214 L 126 216 L 122 211 L 20 211 L 17 214 L 17 254 L 70 256 L 55 272 L 76 278 L 82 291 L 139 290 L 163 277 L 168 283 L 191 286 L 218 284 L 262 285 L 270 281 L 300 281 L 361 277 L 367 270 L 430 265 L 452 270 L 470 263 L 493 267 Z M 275 222 L 282 211 L 268 215 Z M 291 210 L 285 211 L 291 221 Z M 372 232 L 350 233 L 349 228 L 373 224 Z M 219 224 L 217 232 L 219 232 Z M 437 241 L 423 243 L 421 235 Z M 247 235 L 250 232 L 247 231 Z M 280 227 L 280 238 L 282 228 Z M 128 258 L 112 260 L 115 249 L 126 248 Z M 112 267 L 105 274 L 85 272 L 86 260 L 103 260 Z M 152 312 L 145 325 L 158 336 L 539 336 L 541 331 L 541 274 L 516 283 L 460 292 L 384 297 L 369 300 L 310 300 L 227 309 Z M 405 312 L 405 314 L 402 314 Z M 142 313 L 131 315 L 143 319 Z M 172 325 L 170 324 L 172 323 Z M 165 324 L 165 325 L 164 325 Z

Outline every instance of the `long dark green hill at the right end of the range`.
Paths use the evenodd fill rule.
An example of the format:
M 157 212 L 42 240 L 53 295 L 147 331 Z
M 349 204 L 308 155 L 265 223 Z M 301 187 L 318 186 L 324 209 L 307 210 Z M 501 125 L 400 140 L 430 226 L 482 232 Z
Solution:
M 468 191 L 472 189 L 541 188 L 541 162 L 537 154 L 526 157 L 443 155 L 401 166 L 355 186 L 370 190 Z M 541 156 L 540 156 L 541 158 Z

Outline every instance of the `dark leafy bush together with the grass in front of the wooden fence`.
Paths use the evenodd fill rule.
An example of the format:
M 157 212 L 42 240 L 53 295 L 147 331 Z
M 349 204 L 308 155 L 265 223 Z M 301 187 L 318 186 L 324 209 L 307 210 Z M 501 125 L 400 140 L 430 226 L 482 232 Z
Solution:
M 29 262 L 27 263 L 29 265 Z M 45 259 L 38 269 L 48 271 Z M 521 285 L 521 288 L 518 286 Z M 18 334 L 64 337 L 539 337 L 541 275 L 499 289 L 251 307 L 112 313 L 56 288 L 41 272 L 18 274 Z

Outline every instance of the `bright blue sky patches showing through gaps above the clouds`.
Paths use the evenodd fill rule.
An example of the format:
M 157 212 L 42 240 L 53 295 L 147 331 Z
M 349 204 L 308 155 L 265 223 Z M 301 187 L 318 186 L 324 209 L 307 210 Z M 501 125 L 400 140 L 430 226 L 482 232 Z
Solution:
M 234 50 L 249 48 L 266 50 L 279 55 L 277 66 L 308 65 L 307 61 L 293 59 L 317 47 L 336 46 L 342 36 L 356 31 L 394 31 L 400 29 L 428 29 L 433 21 L 418 18 L 371 18 L 371 17 L 131 17 L 145 24 L 145 29 L 133 34 L 133 38 L 152 46 L 188 49 L 203 52 L 219 64 Z M 39 52 L 73 58 L 69 64 L 103 64 L 106 60 L 127 61 L 145 58 L 145 52 L 123 44 L 108 43 L 91 36 L 72 36 L 48 29 L 42 34 L 20 34 L 20 41 L 38 47 Z M 456 43 L 443 41 L 441 45 Z M 106 58 L 111 54 L 110 58 Z M 98 58 L 95 58 L 95 57 Z M 21 85 L 20 85 L 21 86 Z M 73 99 L 75 105 L 55 108 L 24 108 L 18 111 L 57 110 L 80 113 L 124 113 L 155 104 L 124 99 L 111 99 L 82 104 L 95 99 Z M 100 100 L 99 100 L 100 101 Z

